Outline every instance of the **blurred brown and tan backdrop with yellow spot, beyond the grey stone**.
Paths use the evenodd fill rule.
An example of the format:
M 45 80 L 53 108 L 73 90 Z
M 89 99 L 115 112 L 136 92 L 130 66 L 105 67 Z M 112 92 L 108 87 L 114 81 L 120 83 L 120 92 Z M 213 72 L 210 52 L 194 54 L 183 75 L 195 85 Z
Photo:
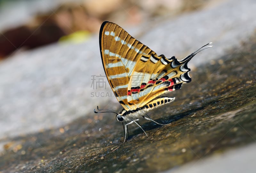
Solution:
M 213 0 L 1 0 L 0 58 L 58 41 L 83 42 L 103 21 L 132 27 L 207 7 Z

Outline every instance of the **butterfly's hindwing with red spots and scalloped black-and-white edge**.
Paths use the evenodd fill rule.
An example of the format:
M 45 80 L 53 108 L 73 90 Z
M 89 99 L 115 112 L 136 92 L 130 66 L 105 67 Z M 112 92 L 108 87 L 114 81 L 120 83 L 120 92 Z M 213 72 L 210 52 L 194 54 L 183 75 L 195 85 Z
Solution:
M 175 57 L 167 59 L 164 55 L 142 56 L 132 74 L 128 87 L 128 104 L 142 107 L 160 95 L 181 88 L 188 83 L 190 69 L 187 61 L 180 62 Z

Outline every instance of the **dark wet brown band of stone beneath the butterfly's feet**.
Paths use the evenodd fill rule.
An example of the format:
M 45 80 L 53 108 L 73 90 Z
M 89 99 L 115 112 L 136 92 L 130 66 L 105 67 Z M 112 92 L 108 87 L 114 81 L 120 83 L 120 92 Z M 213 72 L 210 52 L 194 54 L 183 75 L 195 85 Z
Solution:
M 123 143 L 115 116 L 92 112 L 59 129 L 12 138 L 0 156 L 1 172 L 156 172 L 255 142 L 255 55 L 253 38 L 192 69 L 192 82 L 171 93 L 176 100 L 149 113 L 171 124 L 140 122 L 147 136 L 130 125 Z

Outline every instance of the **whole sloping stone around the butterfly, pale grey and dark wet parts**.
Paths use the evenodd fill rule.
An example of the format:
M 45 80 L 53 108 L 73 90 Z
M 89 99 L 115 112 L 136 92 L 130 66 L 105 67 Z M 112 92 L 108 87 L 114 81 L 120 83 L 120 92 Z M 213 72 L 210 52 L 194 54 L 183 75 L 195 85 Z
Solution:
M 253 8 L 253 0 L 228 1 L 159 21 L 141 35 L 142 43 L 166 56 L 189 50 L 188 54 L 210 41 L 214 48 L 201 52 L 189 64 L 195 66 L 192 82 L 171 93 L 175 102 L 150 113 L 156 121 L 172 124 L 161 127 L 142 122 L 148 136 L 129 126 L 124 144 L 122 125 L 115 116 L 92 112 L 97 105 L 119 107 L 114 97 L 91 97 L 95 91 L 110 93 L 108 85 L 106 90 L 92 87 L 92 75 L 104 75 L 97 36 L 83 44 L 20 51 L 1 62 L 0 171 L 174 171 L 189 161 L 204 161 L 216 154 L 222 157 L 226 150 L 235 153 L 239 146 L 255 142 Z M 189 28 L 185 21 L 191 22 Z M 138 30 L 131 33 L 140 35 Z M 248 152 L 253 146 L 238 152 Z M 228 171 L 228 166 L 227 162 L 223 169 Z M 248 172 L 255 170 L 253 166 L 247 165 Z

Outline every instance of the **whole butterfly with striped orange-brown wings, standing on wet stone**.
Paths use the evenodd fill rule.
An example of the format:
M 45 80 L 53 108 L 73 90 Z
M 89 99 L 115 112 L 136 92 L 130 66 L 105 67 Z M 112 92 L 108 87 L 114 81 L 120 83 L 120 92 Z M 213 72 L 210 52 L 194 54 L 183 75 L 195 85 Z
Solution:
M 141 118 L 160 124 L 144 115 L 156 107 L 174 101 L 174 97 L 166 97 L 165 94 L 180 89 L 183 83 L 191 82 L 188 61 L 198 52 L 212 47 L 209 46 L 211 43 L 205 44 L 182 60 L 174 56 L 158 56 L 123 28 L 109 21 L 102 23 L 99 41 L 102 64 L 108 82 L 124 109 L 116 113 L 99 109 L 97 106 L 100 112 L 95 109 L 94 112 L 113 112 L 116 114 L 116 120 L 123 122 L 123 127 L 125 122 L 124 142 L 127 125 L 135 123 L 142 129 L 138 123 Z M 144 130 L 143 132 L 147 135 Z

